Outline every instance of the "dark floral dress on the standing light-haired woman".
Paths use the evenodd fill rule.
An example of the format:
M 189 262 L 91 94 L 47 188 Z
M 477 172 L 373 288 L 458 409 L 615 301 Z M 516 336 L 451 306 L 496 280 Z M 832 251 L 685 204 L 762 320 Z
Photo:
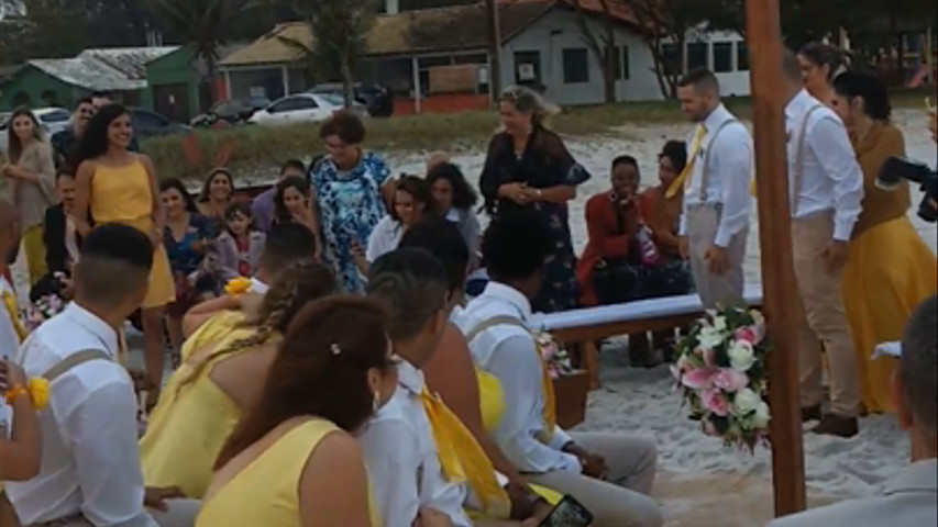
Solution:
M 562 184 L 576 187 L 588 179 L 589 172 L 570 155 L 560 136 L 538 126 L 520 155 L 515 153 L 515 143 L 509 134 L 500 133 L 492 139 L 479 186 L 486 210 L 496 217 L 503 211 L 522 208 L 512 201 L 498 199 L 498 188 L 505 183 L 523 182 L 534 189 L 549 189 Z M 575 309 L 580 288 L 566 204 L 534 202 L 523 209 L 541 215 L 554 235 L 554 250 L 545 261 L 544 281 L 531 303 L 533 310 L 553 313 Z

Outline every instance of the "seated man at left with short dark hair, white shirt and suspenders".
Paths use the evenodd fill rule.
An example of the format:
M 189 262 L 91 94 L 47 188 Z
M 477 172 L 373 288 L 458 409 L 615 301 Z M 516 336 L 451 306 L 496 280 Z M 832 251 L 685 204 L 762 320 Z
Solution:
M 143 233 L 97 227 L 76 267 L 75 301 L 20 349 L 27 375 L 51 380 L 49 404 L 40 414 L 42 470 L 7 485 L 23 525 L 151 527 L 157 523 L 144 505 L 165 509 L 170 502 L 164 498 L 178 495 L 144 489 L 133 383 L 115 362 L 118 330 L 145 298 L 152 262 L 153 244 Z M 187 525 L 176 520 L 159 525 Z

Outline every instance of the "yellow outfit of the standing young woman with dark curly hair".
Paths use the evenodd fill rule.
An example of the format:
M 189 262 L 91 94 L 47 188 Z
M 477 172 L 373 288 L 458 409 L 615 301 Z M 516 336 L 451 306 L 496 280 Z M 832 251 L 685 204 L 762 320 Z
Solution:
M 153 192 L 143 164 L 120 168 L 98 165 L 91 178 L 91 218 L 95 224 L 121 223 L 150 236 L 153 231 Z M 157 244 L 150 271 L 150 290 L 141 307 L 159 307 L 176 300 L 166 248 Z

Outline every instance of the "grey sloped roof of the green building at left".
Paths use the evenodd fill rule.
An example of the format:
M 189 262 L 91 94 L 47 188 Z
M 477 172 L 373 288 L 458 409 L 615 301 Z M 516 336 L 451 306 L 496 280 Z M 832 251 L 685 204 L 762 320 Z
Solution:
M 73 58 L 38 58 L 26 64 L 89 90 L 142 90 L 146 88 L 146 64 L 176 49 L 178 46 L 86 49 Z

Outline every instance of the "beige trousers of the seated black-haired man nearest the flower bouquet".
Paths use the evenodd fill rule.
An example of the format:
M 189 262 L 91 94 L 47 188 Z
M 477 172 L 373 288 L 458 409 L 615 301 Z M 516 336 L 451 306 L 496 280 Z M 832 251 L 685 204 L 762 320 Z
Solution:
M 594 527 L 660 527 L 661 508 L 648 496 L 654 483 L 654 441 L 618 434 L 571 434 L 574 442 L 606 458 L 607 481 L 574 472 L 548 472 L 531 480 L 570 494 L 594 514 Z

